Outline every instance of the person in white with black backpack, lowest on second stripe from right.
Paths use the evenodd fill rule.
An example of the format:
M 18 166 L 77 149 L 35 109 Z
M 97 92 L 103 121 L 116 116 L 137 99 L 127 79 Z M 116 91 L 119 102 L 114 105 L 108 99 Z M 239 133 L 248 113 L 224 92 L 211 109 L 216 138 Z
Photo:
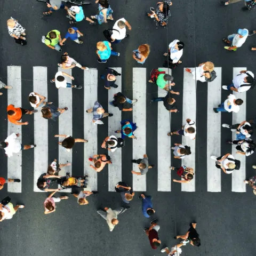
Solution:
M 211 156 L 215 160 L 215 166 L 218 169 L 222 169 L 226 174 L 233 173 L 234 170 L 240 169 L 240 161 L 236 160 L 235 157 L 229 153 L 224 156 Z

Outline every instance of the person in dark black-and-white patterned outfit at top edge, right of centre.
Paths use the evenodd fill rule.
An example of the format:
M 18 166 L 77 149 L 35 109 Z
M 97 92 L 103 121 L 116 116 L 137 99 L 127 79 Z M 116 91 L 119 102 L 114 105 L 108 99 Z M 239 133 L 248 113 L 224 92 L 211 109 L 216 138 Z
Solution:
M 171 11 L 169 10 L 171 5 L 172 2 L 170 0 L 158 2 L 156 10 L 150 8 L 151 13 L 146 13 L 148 17 L 154 18 L 156 28 L 158 28 L 158 26 L 164 27 L 167 25 L 168 18 L 171 16 Z

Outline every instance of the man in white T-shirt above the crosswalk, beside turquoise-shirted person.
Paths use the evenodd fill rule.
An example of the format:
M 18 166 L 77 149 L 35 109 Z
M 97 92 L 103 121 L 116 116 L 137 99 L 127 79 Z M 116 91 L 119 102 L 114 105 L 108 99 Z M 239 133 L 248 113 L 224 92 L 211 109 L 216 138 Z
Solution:
M 122 41 L 122 39 L 124 39 L 125 37 L 129 37 L 129 34 L 126 34 L 125 26 L 127 26 L 129 30 L 132 30 L 131 25 L 124 18 L 116 21 L 115 25 L 113 26 L 113 30 L 112 30 L 111 44 L 120 43 Z

